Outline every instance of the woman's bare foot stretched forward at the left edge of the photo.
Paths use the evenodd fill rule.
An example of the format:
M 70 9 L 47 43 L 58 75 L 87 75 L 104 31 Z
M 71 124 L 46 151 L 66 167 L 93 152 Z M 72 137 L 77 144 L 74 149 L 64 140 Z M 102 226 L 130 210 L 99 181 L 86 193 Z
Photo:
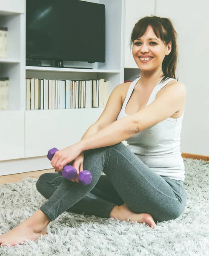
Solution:
M 46 228 L 50 220 L 39 209 L 31 217 L 14 227 L 9 232 L 0 236 L 0 244 L 2 246 L 16 245 L 25 242 L 26 240 L 37 240 L 40 236 L 47 234 Z

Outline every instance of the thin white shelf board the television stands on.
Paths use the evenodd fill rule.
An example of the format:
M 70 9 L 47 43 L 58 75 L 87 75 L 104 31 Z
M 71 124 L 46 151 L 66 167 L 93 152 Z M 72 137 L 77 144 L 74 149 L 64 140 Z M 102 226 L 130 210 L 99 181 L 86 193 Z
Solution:
M 58 71 L 58 72 L 88 72 L 88 73 L 120 73 L 120 70 L 97 70 L 97 69 L 80 69 L 80 68 L 62 68 L 62 67 L 35 67 L 26 66 L 26 70 L 35 71 Z

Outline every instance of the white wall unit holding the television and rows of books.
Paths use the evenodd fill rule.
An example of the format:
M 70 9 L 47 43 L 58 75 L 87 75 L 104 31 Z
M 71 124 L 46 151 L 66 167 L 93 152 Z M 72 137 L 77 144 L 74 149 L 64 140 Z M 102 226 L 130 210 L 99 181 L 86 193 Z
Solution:
M 105 79 L 109 81 L 110 94 L 117 84 L 140 75 L 134 59 L 125 54 L 127 51 L 131 54 L 125 45 L 127 48 L 128 35 L 137 20 L 154 14 L 155 0 L 147 1 L 149 4 L 138 0 L 89 2 L 105 4 L 106 61 L 93 64 L 63 61 L 65 67 L 77 69 L 50 67 L 51 61 L 42 61 L 47 67 L 26 66 L 25 0 L 0 2 L 0 26 L 8 27 L 8 58 L 0 59 L 0 77 L 9 77 L 9 110 L 0 111 L 3 123 L 0 126 L 0 176 L 52 168 L 46 157 L 48 150 L 61 149 L 79 141 L 103 111 L 103 108 L 26 110 L 27 78 Z M 140 10 L 133 18 L 132 10 L 139 6 L 138 2 Z M 126 55 L 129 61 L 124 59 Z

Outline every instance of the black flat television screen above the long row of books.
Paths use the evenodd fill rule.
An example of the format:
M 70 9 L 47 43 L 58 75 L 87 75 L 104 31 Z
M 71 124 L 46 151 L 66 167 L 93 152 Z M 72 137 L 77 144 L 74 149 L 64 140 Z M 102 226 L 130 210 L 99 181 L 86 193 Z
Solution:
M 26 58 L 104 62 L 105 5 L 26 0 Z

